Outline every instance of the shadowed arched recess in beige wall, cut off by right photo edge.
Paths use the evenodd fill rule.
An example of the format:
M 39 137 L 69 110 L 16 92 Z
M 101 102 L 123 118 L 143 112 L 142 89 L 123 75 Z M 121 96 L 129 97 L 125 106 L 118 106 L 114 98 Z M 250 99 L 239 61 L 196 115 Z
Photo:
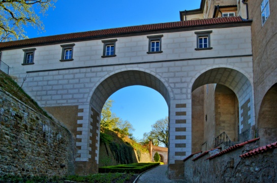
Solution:
M 277 83 L 265 94 L 258 114 L 260 146 L 277 141 Z

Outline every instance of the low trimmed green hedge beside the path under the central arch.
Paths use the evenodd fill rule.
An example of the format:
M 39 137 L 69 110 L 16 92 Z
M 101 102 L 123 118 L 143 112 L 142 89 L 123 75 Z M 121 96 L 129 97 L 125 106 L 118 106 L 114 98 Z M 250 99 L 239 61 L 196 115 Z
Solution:
M 133 163 L 133 164 L 127 164 L 127 165 L 117 165 L 117 166 L 107 166 L 107 167 L 100 167 L 99 173 L 141 173 L 144 172 L 150 168 L 156 167 L 160 165 L 160 163 Z

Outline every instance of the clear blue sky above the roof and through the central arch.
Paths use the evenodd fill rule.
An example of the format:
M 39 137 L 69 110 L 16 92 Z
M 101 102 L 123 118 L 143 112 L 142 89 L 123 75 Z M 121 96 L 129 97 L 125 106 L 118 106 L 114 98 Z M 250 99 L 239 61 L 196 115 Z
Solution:
M 77 2 L 77 3 L 76 3 Z M 198 9 L 200 0 L 58 0 L 56 8 L 41 17 L 45 31 L 38 34 L 33 27 L 25 31 L 29 38 L 132 25 L 179 21 L 179 11 Z M 130 86 L 114 93 L 112 112 L 129 120 L 136 129 L 134 137 L 141 139 L 156 120 L 168 116 L 168 106 L 156 90 L 145 86 Z

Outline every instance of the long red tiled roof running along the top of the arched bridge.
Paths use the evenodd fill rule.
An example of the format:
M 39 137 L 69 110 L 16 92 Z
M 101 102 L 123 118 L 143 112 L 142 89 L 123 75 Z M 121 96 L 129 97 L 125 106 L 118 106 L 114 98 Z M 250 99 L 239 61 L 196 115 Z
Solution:
M 176 28 L 187 28 L 205 25 L 221 25 L 221 24 L 232 24 L 232 23 L 244 23 L 251 22 L 251 20 L 244 20 L 241 17 L 224 17 L 224 18 L 209 18 L 209 19 L 198 19 L 188 21 L 177 21 L 168 23 L 156 23 L 147 25 L 137 25 L 119 28 L 102 29 L 98 31 L 87 31 L 80 33 L 70 33 L 55 36 L 46 36 L 39 38 L 31 38 L 19 41 L 10 41 L 0 43 L 0 49 L 12 48 L 12 47 L 23 47 L 28 45 L 42 45 L 42 44 L 53 44 L 57 42 L 67 41 L 80 41 L 89 39 L 105 39 L 108 36 L 122 36 L 128 34 L 139 34 L 139 33 L 155 33 L 157 31 L 166 31 Z

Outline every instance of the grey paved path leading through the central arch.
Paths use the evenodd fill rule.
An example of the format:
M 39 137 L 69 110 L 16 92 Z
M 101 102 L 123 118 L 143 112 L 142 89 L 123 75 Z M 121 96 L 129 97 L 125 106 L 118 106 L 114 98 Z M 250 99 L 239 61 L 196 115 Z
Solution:
M 167 165 L 160 165 L 140 175 L 136 183 L 175 183 L 184 182 L 184 180 L 169 180 L 166 176 Z

